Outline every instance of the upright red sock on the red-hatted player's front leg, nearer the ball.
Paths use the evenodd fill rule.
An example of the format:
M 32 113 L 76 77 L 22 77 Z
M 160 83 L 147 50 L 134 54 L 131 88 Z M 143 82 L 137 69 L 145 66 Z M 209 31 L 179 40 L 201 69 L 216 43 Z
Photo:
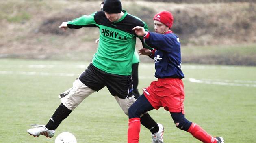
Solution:
M 129 119 L 128 143 L 139 143 L 139 132 L 141 131 L 141 119 Z

